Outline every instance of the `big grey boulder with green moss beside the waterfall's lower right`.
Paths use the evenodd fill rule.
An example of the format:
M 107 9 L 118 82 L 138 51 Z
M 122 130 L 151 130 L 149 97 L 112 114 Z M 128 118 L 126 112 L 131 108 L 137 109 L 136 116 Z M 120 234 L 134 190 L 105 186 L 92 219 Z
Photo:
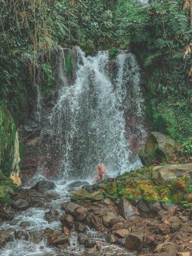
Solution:
M 174 141 L 162 133 L 152 132 L 147 142 L 139 151 L 143 165 L 151 165 L 154 159 L 166 162 L 174 155 Z

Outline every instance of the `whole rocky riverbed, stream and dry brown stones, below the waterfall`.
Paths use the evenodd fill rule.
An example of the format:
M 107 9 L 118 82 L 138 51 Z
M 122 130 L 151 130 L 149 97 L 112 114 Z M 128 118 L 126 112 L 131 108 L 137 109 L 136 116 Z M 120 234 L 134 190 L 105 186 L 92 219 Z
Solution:
M 41 181 L 20 188 L 12 204 L 1 205 L 1 255 L 191 255 L 190 210 L 103 198 L 94 187 Z M 70 200 L 84 191 L 89 199 Z

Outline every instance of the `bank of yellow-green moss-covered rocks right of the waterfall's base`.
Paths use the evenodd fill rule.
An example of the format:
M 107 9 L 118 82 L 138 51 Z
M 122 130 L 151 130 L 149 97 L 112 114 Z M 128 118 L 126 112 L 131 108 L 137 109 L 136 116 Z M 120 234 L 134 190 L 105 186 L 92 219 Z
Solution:
M 154 166 L 151 165 L 132 170 L 116 177 L 114 181 L 102 181 L 100 184 L 105 184 L 102 189 L 100 184 L 95 184 L 94 189 L 100 191 L 104 198 L 122 198 L 135 202 L 143 200 L 151 203 L 173 203 L 192 210 L 191 175 L 176 177 L 167 183 L 157 185 L 152 177 L 153 168 Z M 78 193 L 77 197 L 74 194 L 72 200 L 85 200 L 89 197 L 88 191 L 84 190 L 83 195 Z M 97 199 L 95 198 L 95 200 Z

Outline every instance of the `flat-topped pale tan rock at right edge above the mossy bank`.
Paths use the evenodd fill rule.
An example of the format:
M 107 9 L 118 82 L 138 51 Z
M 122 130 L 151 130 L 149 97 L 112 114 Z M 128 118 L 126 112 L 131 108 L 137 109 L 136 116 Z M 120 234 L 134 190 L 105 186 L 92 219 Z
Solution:
M 191 163 L 157 165 L 152 169 L 152 180 L 157 185 L 166 185 L 170 180 L 182 176 L 192 169 Z

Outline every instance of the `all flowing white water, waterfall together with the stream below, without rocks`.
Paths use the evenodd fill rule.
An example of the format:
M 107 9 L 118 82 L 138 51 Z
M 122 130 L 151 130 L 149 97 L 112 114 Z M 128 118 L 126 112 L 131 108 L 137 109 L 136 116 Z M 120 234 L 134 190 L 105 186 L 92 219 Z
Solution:
M 44 119 L 41 131 L 44 154 L 59 169 L 59 180 L 55 180 L 56 189 L 42 193 L 47 200 L 46 207 L 32 207 L 18 212 L 12 221 L 3 222 L 1 229 L 23 230 L 21 223 L 29 221 L 25 230 L 28 241 L 15 240 L 0 249 L 1 255 L 82 255 L 84 249 L 77 243 L 77 234 L 71 236 L 67 249 L 48 247 L 44 239 L 39 238 L 40 231 L 47 227 L 61 230 L 59 222 L 48 223 L 44 219 L 46 211 L 57 209 L 70 200 L 79 187 L 71 187 L 72 180 L 87 180 L 93 183 L 93 175 L 98 163 L 103 163 L 110 176 L 136 169 L 141 166 L 138 149 L 146 137 L 143 97 L 140 89 L 140 69 L 136 57 L 129 51 L 119 51 L 115 59 L 109 51 L 98 52 L 86 57 L 78 47 L 76 53 L 74 79 L 69 81 L 66 71 L 65 52 L 59 49 L 57 66 L 58 97 L 48 117 L 39 117 L 40 101 L 37 100 L 38 120 Z M 38 94 L 39 95 L 39 91 Z M 42 113 L 41 113 L 42 114 Z M 49 168 L 45 162 L 39 163 L 40 170 Z M 55 170 L 56 172 L 56 170 Z M 72 178 L 73 177 L 73 178 Z M 31 181 L 33 185 L 34 180 Z M 27 190 L 26 190 L 27 191 Z M 29 190 L 28 190 L 29 191 Z M 89 236 L 110 244 L 94 229 Z M 134 255 L 114 246 L 114 255 L 118 251 L 124 255 Z

